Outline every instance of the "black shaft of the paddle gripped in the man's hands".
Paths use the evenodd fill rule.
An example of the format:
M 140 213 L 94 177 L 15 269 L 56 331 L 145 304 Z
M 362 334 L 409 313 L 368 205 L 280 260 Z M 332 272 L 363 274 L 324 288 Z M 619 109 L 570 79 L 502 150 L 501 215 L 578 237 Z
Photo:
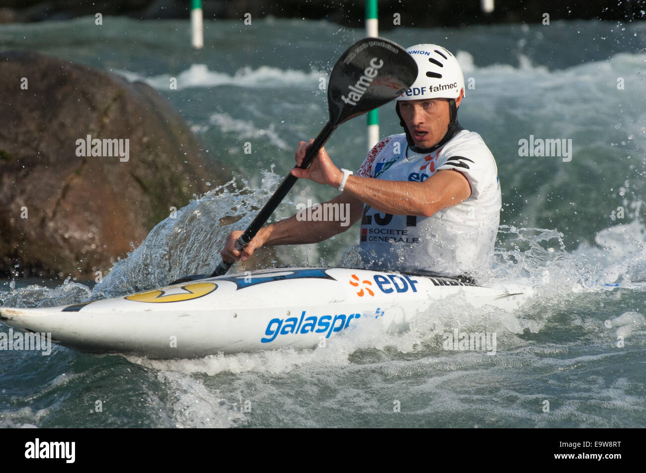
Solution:
M 298 167 L 306 169 L 307 166 L 309 166 L 309 163 L 311 163 L 312 159 L 314 159 L 314 157 L 318 154 L 318 150 L 320 150 L 320 148 L 325 145 L 326 141 L 328 141 L 328 138 L 336 128 L 337 125 L 332 125 L 331 123 L 329 123 L 329 121 L 328 123 L 326 123 L 318 136 L 314 139 L 314 142 L 311 144 L 311 146 L 307 148 L 305 158 L 303 159 L 301 165 Z M 280 186 L 278 186 L 273 196 L 269 198 L 269 201 L 267 201 L 265 206 L 260 210 L 260 212 L 258 212 L 256 218 L 253 219 L 251 225 L 247 226 L 247 230 L 245 230 L 244 234 L 242 234 L 240 238 L 238 238 L 238 240 L 236 241 L 236 249 L 242 251 L 247 245 L 249 245 L 249 242 L 253 240 L 253 237 L 256 236 L 258 230 L 260 230 L 260 228 L 262 228 L 262 226 L 267 223 L 267 220 L 269 220 L 271 214 L 274 213 L 274 210 L 276 210 L 278 205 L 280 205 L 282 199 L 285 198 L 287 192 L 289 192 L 296 181 L 298 181 L 298 177 L 295 177 L 292 174 L 287 174 L 287 177 L 285 177 L 282 183 L 280 183 Z M 233 263 L 225 263 L 224 260 L 220 261 L 220 264 L 217 268 L 215 268 L 210 277 L 227 274 L 227 271 L 229 270 L 229 268 L 231 268 L 231 265 L 233 265 Z

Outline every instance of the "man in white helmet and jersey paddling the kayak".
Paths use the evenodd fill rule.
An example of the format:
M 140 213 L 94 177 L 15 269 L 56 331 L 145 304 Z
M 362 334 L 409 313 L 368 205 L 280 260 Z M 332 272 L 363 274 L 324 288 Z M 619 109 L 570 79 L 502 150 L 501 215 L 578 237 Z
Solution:
M 347 205 L 350 225 L 361 219 L 354 264 L 473 276 L 490 267 L 500 219 L 494 156 L 479 134 L 457 122 L 464 76 L 453 54 L 430 44 L 407 51 L 419 75 L 395 105 L 404 133 L 379 141 L 356 174 L 339 169 L 324 148 L 309 168 L 291 174 L 342 191 L 324 208 Z M 297 165 L 312 142 L 298 145 Z M 297 216 L 265 226 L 242 252 L 235 248 L 242 232 L 231 232 L 222 258 L 244 261 L 262 245 L 318 243 L 349 228 L 347 222 Z

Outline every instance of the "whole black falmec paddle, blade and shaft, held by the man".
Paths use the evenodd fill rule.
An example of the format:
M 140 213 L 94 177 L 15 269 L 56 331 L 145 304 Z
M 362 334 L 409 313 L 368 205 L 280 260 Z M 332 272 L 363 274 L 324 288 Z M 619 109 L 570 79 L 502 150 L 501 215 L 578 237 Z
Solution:
M 328 84 L 329 121 L 315 138 L 300 165 L 305 169 L 341 123 L 390 102 L 410 87 L 417 77 L 413 58 L 397 43 L 383 38 L 365 38 L 349 47 L 332 69 Z M 236 241 L 243 250 L 267 222 L 298 177 L 288 174 L 251 225 Z M 226 274 L 233 263 L 221 261 L 210 277 Z M 173 284 L 202 279 L 187 276 Z

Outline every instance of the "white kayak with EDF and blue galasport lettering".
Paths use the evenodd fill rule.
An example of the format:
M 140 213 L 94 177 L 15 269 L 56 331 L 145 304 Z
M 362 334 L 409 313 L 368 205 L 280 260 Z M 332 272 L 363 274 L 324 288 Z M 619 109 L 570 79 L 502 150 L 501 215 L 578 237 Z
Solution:
M 393 330 L 452 294 L 474 307 L 511 311 L 532 290 L 361 269 L 278 268 L 65 307 L 0 308 L 0 320 L 85 351 L 190 358 L 313 348 L 369 321 Z

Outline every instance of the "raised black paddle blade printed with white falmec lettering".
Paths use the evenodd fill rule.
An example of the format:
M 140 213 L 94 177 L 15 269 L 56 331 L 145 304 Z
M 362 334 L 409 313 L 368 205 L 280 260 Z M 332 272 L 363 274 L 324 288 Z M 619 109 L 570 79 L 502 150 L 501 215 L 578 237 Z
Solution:
M 329 77 L 329 122 L 340 125 L 400 96 L 417 78 L 417 64 L 397 43 L 366 38 L 350 46 Z

